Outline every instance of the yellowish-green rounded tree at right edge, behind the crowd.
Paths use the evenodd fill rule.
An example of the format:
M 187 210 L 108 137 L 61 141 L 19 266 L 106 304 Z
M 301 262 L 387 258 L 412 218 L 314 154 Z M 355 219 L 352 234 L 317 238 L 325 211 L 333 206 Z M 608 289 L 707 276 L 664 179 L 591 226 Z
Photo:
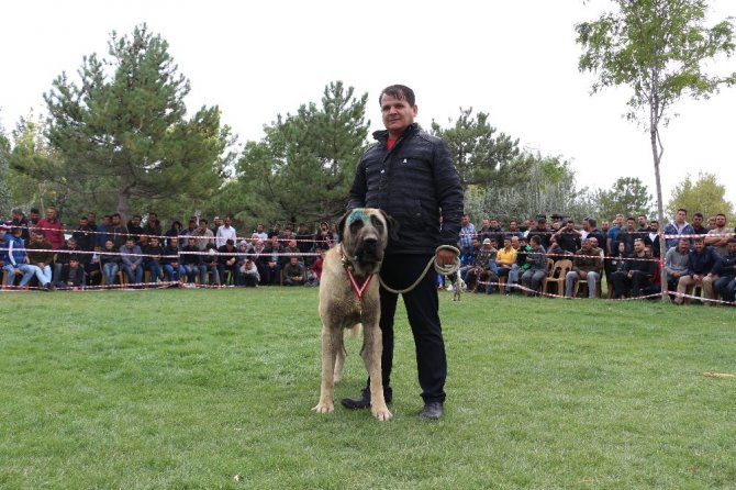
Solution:
M 706 219 L 717 213 L 731 218 L 734 213 L 734 204 L 726 201 L 726 187 L 718 183 L 714 174 L 707 172 L 698 174 L 695 181 L 688 175 L 674 186 L 667 212 L 673 216 L 680 208 L 687 209 L 691 214 L 700 211 Z

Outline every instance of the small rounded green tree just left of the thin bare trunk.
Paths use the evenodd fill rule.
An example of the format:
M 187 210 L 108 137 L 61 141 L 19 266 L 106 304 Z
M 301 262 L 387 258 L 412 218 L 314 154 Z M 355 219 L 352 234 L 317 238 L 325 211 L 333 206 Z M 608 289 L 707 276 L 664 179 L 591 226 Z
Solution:
M 611 189 L 599 190 L 595 200 L 598 215 L 603 220 L 611 220 L 618 213 L 626 218 L 651 215 L 651 194 L 638 177 L 620 177 Z

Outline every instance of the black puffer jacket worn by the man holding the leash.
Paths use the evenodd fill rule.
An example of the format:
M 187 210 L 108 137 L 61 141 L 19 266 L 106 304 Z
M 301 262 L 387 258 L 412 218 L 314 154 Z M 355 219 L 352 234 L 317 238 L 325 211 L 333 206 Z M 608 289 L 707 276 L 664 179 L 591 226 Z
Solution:
M 432 255 L 439 245 L 457 245 L 462 188 L 447 145 L 417 124 L 391 151 L 388 136 L 373 133 L 378 143 L 360 158 L 348 209 L 379 208 L 399 223 L 399 240 L 389 243 L 387 255 Z

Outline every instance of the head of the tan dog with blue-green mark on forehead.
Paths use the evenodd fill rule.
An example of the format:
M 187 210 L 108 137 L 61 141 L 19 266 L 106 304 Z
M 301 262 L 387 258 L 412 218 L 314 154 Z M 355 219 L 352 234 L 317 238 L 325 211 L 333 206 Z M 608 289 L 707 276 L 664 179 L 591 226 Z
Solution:
M 360 275 L 378 272 L 389 240 L 397 238 L 395 221 L 375 208 L 348 211 L 337 230 L 345 258 Z

